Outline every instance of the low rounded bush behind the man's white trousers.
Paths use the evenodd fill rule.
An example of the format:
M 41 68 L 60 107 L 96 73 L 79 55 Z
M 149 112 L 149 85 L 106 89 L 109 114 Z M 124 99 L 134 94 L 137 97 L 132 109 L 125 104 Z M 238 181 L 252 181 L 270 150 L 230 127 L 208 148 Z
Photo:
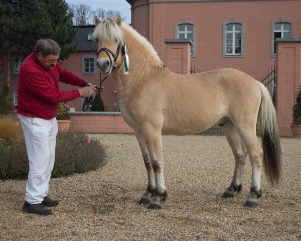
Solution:
M 106 158 L 106 147 L 97 139 L 82 133 L 60 132 L 51 177 L 96 170 L 105 165 Z M 10 145 L 0 144 L 0 179 L 27 178 L 28 170 L 24 138 L 15 138 Z

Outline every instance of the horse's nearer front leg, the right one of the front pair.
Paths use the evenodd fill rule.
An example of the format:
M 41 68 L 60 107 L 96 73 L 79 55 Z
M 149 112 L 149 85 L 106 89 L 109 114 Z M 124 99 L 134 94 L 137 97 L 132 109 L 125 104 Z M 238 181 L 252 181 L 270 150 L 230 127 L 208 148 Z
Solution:
M 164 161 L 162 155 L 162 137 L 161 130 L 155 128 L 145 128 L 143 137 L 146 142 L 150 162 L 155 173 L 155 193 L 150 201 L 149 209 L 161 209 L 161 202 L 167 198 L 167 191 L 164 181 Z

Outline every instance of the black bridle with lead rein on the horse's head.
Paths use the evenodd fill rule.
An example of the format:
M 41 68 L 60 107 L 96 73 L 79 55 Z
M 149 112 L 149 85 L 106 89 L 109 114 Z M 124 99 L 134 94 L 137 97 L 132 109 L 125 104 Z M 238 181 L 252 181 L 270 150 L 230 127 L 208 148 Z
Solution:
M 115 53 L 115 54 L 114 54 L 111 50 L 109 50 L 109 49 L 107 49 L 107 48 L 100 48 L 99 51 L 96 53 L 97 58 L 98 58 L 99 54 L 100 54 L 102 51 L 105 52 L 105 53 L 107 54 L 107 56 L 109 57 L 109 60 L 110 60 L 110 66 L 111 66 L 111 68 L 112 68 L 111 73 L 112 73 L 112 72 L 116 69 L 116 67 L 117 67 L 116 61 L 117 61 L 117 58 L 118 58 L 118 55 L 119 55 L 120 46 L 121 46 L 121 45 L 120 45 L 120 43 L 119 43 L 118 46 L 117 46 L 117 50 L 116 50 L 116 53 Z M 110 53 L 111 56 L 113 57 L 113 60 L 112 60 L 112 58 L 111 58 L 111 56 L 110 56 L 109 53 Z M 122 54 L 123 54 L 123 52 L 122 52 Z M 113 62 L 114 62 L 114 63 L 113 63 Z M 111 74 L 111 73 L 110 73 L 110 74 Z M 105 81 L 105 79 L 106 79 L 107 77 L 109 77 L 109 75 L 105 76 L 105 77 L 103 78 L 103 80 L 101 80 L 101 73 L 100 73 L 100 71 L 99 71 L 99 75 L 100 75 L 100 83 L 99 83 L 99 85 L 96 85 L 95 88 L 99 90 L 99 96 L 100 96 L 101 84 L 103 83 L 103 81 Z M 83 111 L 84 111 L 84 112 L 86 112 L 87 109 L 90 109 L 90 108 L 91 108 L 91 107 L 89 107 L 90 101 L 91 101 L 91 100 L 93 100 L 93 96 L 85 97 L 85 100 L 84 100 L 84 103 L 83 103 Z

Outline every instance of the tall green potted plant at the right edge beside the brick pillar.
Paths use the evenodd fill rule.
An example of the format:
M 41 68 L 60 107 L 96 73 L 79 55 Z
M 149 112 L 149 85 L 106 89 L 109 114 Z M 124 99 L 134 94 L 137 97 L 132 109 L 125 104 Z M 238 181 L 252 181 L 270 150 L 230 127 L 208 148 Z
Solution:
M 295 93 L 296 102 L 292 107 L 292 123 L 290 124 L 292 137 L 301 138 L 301 85 Z

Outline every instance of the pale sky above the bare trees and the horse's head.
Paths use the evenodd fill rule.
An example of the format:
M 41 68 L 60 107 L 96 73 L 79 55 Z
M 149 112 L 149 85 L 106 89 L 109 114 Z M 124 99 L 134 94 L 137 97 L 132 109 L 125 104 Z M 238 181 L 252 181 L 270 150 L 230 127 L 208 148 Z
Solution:
M 126 16 L 125 23 L 130 23 L 130 5 L 125 0 L 65 0 L 67 4 L 86 4 L 92 7 L 92 9 L 104 9 L 119 11 L 122 16 Z

